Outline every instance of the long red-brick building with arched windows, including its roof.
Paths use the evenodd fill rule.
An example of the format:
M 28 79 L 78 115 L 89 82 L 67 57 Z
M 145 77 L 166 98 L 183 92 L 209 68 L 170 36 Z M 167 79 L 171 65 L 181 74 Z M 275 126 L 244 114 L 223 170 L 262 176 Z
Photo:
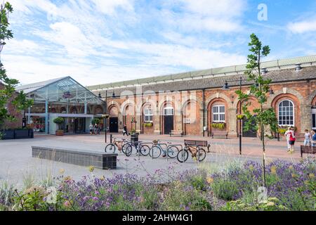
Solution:
M 316 56 L 304 56 L 262 63 L 263 74 L 272 79 L 266 108 L 274 108 L 281 126 L 294 126 L 298 134 L 316 129 Z M 245 65 L 213 68 L 175 75 L 134 79 L 88 86 L 105 97 L 110 131 L 126 127 L 142 134 L 186 135 L 228 133 L 237 136 L 239 100 L 235 91 L 244 76 Z M 229 81 L 229 82 L 226 82 Z M 230 86 L 223 89 L 223 85 Z M 249 90 L 242 82 L 242 91 Z M 258 103 L 250 99 L 251 108 Z M 132 122 L 132 121 L 136 121 Z M 218 129 L 214 123 L 224 124 Z M 151 124 L 148 125 L 147 124 Z M 256 131 L 243 136 L 256 136 Z

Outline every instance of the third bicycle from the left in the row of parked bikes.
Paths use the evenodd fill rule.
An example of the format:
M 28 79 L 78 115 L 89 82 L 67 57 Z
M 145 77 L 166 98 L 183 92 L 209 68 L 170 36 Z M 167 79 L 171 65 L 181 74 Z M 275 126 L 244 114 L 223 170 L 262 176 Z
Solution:
M 152 148 L 150 148 L 150 157 L 151 158 L 159 158 L 160 155 L 163 154 L 163 157 L 166 157 L 168 154 L 169 158 L 176 158 L 178 154 L 178 147 L 171 146 L 171 142 L 167 143 L 159 143 L 159 140 L 152 141 L 153 145 Z M 163 148 L 162 146 L 166 146 L 166 148 Z

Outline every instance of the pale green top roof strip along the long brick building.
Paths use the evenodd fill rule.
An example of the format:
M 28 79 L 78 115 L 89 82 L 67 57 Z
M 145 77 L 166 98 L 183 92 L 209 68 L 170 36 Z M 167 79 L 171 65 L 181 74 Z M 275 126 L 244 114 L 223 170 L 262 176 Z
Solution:
M 314 63 L 314 62 L 316 62 L 316 55 L 266 61 L 261 64 L 261 67 L 262 68 L 275 68 L 275 67 L 281 67 L 281 66 L 287 66 L 287 65 Z M 163 81 L 168 81 L 168 80 L 173 80 L 173 79 L 203 77 L 207 75 L 220 75 L 220 74 L 227 74 L 227 73 L 233 73 L 233 72 L 242 72 L 245 70 L 246 70 L 246 64 L 231 65 L 231 66 L 226 66 L 222 68 L 212 68 L 209 70 L 197 70 L 193 72 L 182 72 L 182 73 L 177 73 L 173 75 L 147 77 L 143 79 L 132 79 L 132 80 L 124 81 L 124 82 L 113 82 L 110 84 L 99 84 L 99 85 L 87 86 L 87 88 L 90 90 L 109 89 L 109 88 L 119 87 L 119 86 L 127 86 L 127 85 L 134 85 L 134 84 L 147 84 L 150 82 L 163 82 Z

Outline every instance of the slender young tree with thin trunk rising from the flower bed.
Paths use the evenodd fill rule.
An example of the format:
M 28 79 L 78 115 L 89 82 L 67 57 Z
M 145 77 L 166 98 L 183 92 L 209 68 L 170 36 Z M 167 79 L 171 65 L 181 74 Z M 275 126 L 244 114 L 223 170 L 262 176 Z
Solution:
M 251 41 L 249 42 L 249 51 L 251 52 L 248 56 L 245 75 L 249 82 L 254 82 L 250 86 L 249 94 L 244 94 L 238 90 L 236 93 L 239 96 L 239 101 L 245 103 L 242 106 L 244 115 L 246 115 L 247 121 L 244 125 L 244 131 L 249 131 L 254 127 L 260 131 L 262 149 L 263 149 L 263 186 L 265 184 L 265 130 L 277 131 L 278 123 L 275 110 L 273 108 L 265 108 L 265 103 L 268 101 L 268 93 L 270 92 L 271 79 L 264 77 L 261 74 L 261 62 L 262 58 L 268 56 L 270 53 L 269 46 L 263 46 L 261 41 L 256 37 L 255 34 L 250 35 Z M 255 108 L 253 113 L 256 114 L 254 117 L 249 111 L 249 98 L 253 96 L 257 99 L 260 107 Z M 266 135 L 268 138 L 272 136 Z

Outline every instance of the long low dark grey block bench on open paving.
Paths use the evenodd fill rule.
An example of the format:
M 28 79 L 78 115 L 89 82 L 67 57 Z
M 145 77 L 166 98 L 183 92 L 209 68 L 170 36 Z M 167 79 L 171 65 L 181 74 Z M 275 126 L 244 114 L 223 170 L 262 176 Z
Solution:
M 32 146 L 32 157 L 64 162 L 82 167 L 116 169 L 117 154 L 55 147 Z

